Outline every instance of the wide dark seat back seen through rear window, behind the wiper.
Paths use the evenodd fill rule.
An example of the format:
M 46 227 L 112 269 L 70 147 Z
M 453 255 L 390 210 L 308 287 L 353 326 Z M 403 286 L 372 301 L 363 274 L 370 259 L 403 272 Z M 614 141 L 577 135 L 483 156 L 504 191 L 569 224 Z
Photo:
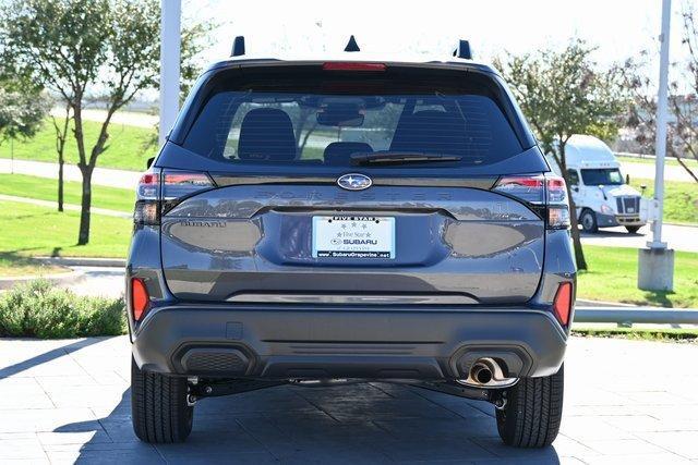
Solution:
M 423 110 L 400 118 L 390 150 L 466 155 L 467 142 L 466 121 L 460 114 Z

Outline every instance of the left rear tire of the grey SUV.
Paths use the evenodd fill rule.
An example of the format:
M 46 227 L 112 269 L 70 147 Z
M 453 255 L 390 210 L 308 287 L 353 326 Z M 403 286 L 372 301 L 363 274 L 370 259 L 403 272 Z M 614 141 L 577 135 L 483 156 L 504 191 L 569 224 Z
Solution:
M 140 440 L 182 442 L 192 431 L 193 418 L 186 379 L 143 371 L 131 358 L 131 419 Z

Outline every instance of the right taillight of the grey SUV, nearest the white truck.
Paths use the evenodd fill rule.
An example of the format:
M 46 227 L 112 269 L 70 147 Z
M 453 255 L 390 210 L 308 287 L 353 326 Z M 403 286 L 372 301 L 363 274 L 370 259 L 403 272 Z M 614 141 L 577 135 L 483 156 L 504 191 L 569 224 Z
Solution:
M 493 188 L 527 203 L 545 220 L 547 229 L 569 228 L 565 180 L 552 174 L 501 178 Z

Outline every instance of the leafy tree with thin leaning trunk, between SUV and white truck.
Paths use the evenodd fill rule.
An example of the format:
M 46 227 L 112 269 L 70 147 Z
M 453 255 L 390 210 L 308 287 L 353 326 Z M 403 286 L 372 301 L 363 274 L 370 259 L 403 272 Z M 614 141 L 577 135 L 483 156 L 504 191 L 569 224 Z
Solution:
M 617 134 L 626 98 L 617 73 L 600 70 L 594 51 L 571 40 L 563 50 L 543 50 L 495 60 L 530 122 L 541 148 L 551 154 L 567 184 L 577 268 L 587 269 L 567 175 L 566 146 L 575 134 L 610 139 Z

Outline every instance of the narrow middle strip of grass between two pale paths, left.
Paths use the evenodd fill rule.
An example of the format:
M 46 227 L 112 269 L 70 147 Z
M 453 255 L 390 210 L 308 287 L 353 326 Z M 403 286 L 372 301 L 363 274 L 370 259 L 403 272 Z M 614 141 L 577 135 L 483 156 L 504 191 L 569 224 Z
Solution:
M 80 205 L 82 186 L 79 182 L 63 184 L 63 198 L 67 204 Z M 56 201 L 58 181 L 24 174 L 0 174 L 0 194 L 38 198 Z M 110 210 L 133 211 L 135 192 L 133 189 L 92 186 L 92 205 Z

